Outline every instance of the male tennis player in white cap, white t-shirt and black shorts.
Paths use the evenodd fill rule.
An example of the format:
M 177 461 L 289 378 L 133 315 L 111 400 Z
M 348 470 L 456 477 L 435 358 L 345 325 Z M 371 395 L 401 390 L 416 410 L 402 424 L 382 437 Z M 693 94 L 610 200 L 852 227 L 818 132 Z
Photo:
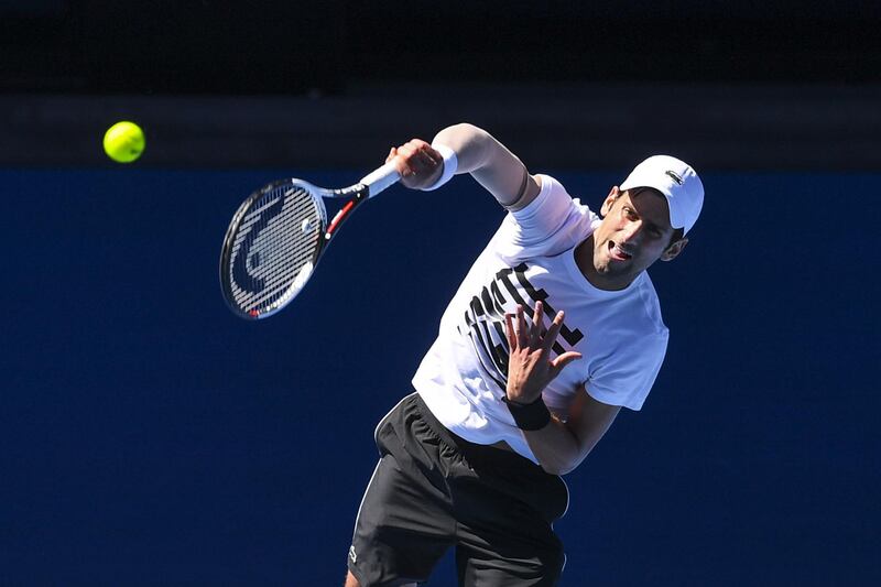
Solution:
M 377 426 L 346 586 L 424 581 L 453 545 L 461 585 L 554 585 L 559 476 L 649 394 L 667 328 L 645 270 L 685 248 L 704 187 L 684 162 L 649 157 L 600 219 L 470 124 L 389 161 L 417 189 L 470 173 L 509 214 L 440 318 L 416 392 Z

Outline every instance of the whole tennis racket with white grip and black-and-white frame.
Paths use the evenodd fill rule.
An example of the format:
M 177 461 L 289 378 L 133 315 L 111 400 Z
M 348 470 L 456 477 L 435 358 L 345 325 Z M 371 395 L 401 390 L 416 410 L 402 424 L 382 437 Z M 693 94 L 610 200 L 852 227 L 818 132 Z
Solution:
M 340 189 L 292 178 L 251 194 L 232 217 L 220 252 L 220 286 L 230 309 L 254 320 L 290 304 L 346 218 L 400 178 L 390 162 Z M 329 224 L 324 198 L 348 198 Z

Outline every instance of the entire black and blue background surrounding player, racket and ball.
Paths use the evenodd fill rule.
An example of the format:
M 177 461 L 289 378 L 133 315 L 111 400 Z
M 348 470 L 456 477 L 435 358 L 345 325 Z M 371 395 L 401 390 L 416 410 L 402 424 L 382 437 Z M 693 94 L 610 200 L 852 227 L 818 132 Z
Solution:
M 879 12 L 0 1 L 0 584 L 341 584 L 373 426 L 501 213 L 392 188 L 260 324 L 220 240 L 254 187 L 460 120 L 594 206 L 655 152 L 707 188 L 652 270 L 655 388 L 567 478 L 562 585 L 879 584 Z

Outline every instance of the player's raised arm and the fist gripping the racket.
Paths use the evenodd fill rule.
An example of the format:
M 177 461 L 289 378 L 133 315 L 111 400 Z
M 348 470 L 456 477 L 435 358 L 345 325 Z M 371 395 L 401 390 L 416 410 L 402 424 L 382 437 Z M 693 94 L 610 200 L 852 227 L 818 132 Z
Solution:
M 433 144 L 443 144 L 456 153 L 456 173 L 470 173 L 508 209 L 529 205 L 541 191 L 539 180 L 490 133 L 474 124 L 460 123 L 438 132 Z M 426 187 L 440 176 L 440 154 L 425 141 L 414 139 L 392 149 L 389 160 L 399 157 L 399 171 L 407 187 Z

